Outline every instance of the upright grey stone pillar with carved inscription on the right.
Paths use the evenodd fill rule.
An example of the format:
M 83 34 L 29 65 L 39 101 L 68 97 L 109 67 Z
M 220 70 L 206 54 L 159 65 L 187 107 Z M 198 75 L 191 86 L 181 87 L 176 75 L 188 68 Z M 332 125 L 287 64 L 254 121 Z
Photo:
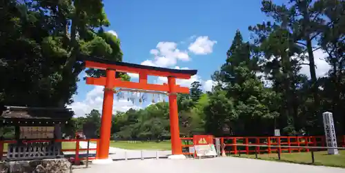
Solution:
M 327 147 L 337 147 L 337 136 L 335 135 L 334 121 L 332 112 L 324 112 L 324 133 L 326 135 Z M 339 154 L 337 149 L 328 149 L 328 154 Z

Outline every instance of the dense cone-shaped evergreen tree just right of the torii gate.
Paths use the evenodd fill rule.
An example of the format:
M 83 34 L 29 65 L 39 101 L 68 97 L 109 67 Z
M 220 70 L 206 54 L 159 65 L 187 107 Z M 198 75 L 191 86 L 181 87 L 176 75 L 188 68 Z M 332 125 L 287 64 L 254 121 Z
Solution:
M 220 124 L 219 127 L 224 127 L 224 124 L 227 124 L 236 135 L 262 133 L 264 121 L 273 119 L 277 114 L 275 110 L 269 109 L 270 105 L 266 104 L 272 91 L 266 90 L 262 81 L 257 78 L 257 57 L 252 56 L 252 52 L 253 48 L 249 43 L 243 41 L 242 34 L 237 30 L 233 43 L 227 52 L 226 63 L 213 75 L 213 79 L 221 83 L 217 90 L 224 90 L 215 93 L 226 94 L 226 97 L 229 98 L 226 101 L 229 106 L 227 108 L 229 113 L 227 116 L 226 114 L 221 116 L 224 118 L 224 123 Z M 220 97 L 219 99 L 224 98 Z M 211 103 L 210 101 L 210 106 L 212 106 Z M 217 101 L 214 101 L 213 104 L 215 103 Z M 221 105 L 218 106 L 222 107 Z M 255 127 L 250 125 L 253 123 L 257 125 Z

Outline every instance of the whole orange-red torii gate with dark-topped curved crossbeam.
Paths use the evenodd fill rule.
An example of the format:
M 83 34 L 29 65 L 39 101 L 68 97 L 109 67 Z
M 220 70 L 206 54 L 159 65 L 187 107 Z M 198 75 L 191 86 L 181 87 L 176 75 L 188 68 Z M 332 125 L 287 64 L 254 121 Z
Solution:
M 115 62 L 106 59 L 90 58 L 86 62 L 86 68 L 106 70 L 106 77 L 87 77 L 86 83 L 89 85 L 102 85 L 104 88 L 103 109 L 101 116 L 100 141 L 97 145 L 97 159 L 95 163 L 108 163 L 110 128 L 112 121 L 112 105 L 114 101 L 114 88 L 130 88 L 139 90 L 151 90 L 168 92 L 170 110 L 170 133 L 172 156 L 170 158 L 181 158 L 181 139 L 179 137 L 179 116 L 177 110 L 177 93 L 189 93 L 189 88 L 176 85 L 176 79 L 190 79 L 197 74 L 197 70 L 177 70 L 169 68 L 157 68 L 147 65 L 137 65 L 133 63 Z M 115 78 L 116 72 L 130 72 L 139 74 L 139 83 L 131 81 L 121 81 Z M 167 77 L 168 84 L 150 84 L 148 75 L 157 77 Z

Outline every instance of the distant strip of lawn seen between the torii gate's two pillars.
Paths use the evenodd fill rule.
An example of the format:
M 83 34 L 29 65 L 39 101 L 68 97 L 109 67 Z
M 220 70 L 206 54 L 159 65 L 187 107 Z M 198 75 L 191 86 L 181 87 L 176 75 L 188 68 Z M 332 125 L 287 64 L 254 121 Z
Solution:
M 125 141 L 110 141 L 110 147 L 119 147 L 128 150 L 171 150 L 170 141 L 126 143 Z

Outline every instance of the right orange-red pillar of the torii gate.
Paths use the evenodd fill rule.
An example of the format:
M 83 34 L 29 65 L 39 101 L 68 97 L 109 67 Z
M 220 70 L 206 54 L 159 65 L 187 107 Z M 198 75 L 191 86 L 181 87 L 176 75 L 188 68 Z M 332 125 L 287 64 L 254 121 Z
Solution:
M 170 134 L 172 155 L 182 154 L 182 143 L 179 138 L 179 114 L 177 112 L 177 93 L 175 77 L 168 77 L 169 85 L 169 110 L 170 110 Z M 110 120 L 111 121 L 111 120 Z

